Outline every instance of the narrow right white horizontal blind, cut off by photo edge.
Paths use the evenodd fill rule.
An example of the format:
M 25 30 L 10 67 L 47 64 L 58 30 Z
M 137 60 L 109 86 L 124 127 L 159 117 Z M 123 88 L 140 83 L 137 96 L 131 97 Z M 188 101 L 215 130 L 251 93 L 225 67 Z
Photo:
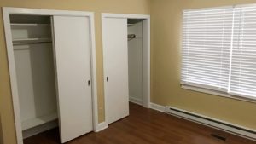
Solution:
M 230 94 L 256 97 L 256 6 L 235 8 Z

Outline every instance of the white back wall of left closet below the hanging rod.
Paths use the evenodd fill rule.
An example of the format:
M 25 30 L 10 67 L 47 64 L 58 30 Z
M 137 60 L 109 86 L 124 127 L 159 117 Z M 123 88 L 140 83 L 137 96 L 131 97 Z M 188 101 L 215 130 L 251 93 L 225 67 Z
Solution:
M 21 121 L 56 112 L 51 44 L 19 45 L 15 49 Z

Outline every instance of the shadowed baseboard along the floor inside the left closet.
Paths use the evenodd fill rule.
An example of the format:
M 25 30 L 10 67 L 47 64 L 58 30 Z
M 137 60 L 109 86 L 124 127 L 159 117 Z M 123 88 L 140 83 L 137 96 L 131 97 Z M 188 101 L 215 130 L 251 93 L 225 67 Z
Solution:
M 28 137 L 31 137 L 33 135 L 38 135 L 39 133 L 42 133 L 46 130 L 51 130 L 55 127 L 58 127 L 58 121 L 54 120 L 46 124 L 38 125 L 34 128 L 28 129 L 28 130 L 23 130 L 22 135 L 23 139 L 26 139 Z

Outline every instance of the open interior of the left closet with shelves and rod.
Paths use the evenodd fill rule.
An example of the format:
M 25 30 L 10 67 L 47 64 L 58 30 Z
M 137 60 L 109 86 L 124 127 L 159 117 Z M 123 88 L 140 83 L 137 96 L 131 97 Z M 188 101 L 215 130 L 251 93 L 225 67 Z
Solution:
M 58 118 L 50 16 L 11 14 L 23 138 Z

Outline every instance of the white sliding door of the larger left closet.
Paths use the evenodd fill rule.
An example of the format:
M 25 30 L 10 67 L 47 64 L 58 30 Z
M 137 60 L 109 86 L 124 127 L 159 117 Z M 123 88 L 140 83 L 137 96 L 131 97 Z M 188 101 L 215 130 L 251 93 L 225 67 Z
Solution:
M 53 17 L 62 143 L 92 130 L 89 22 L 87 17 Z

